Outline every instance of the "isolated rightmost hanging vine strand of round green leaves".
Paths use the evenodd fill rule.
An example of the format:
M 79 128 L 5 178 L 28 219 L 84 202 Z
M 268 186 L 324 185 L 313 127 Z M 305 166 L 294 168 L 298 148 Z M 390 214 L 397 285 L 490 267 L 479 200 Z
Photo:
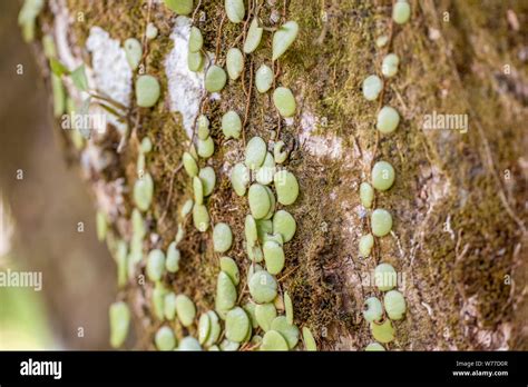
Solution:
M 407 0 L 398 0 L 394 3 L 392 19 L 399 24 L 405 23 L 410 18 L 410 6 Z M 389 42 L 387 36 L 377 39 L 377 46 L 383 47 Z M 387 54 L 382 60 L 381 73 L 383 78 L 394 77 L 398 72 L 400 58 L 395 53 Z M 384 81 L 377 75 L 366 77 L 362 85 L 363 97 L 369 101 L 380 98 Z M 378 112 L 375 128 L 382 133 L 393 132 L 400 123 L 400 115 L 390 107 L 384 106 Z M 374 204 L 374 190 L 384 192 L 389 190 L 395 179 L 394 168 L 388 161 L 380 160 L 374 163 L 371 170 L 371 181 L 363 181 L 360 185 L 360 200 L 364 208 L 371 209 Z M 392 216 L 383 209 L 377 208 L 370 216 L 371 232 L 363 235 L 359 242 L 359 252 L 362 257 L 371 255 L 374 247 L 374 237 L 384 237 L 391 232 Z M 363 317 L 370 322 L 371 333 L 379 343 L 390 343 L 394 338 L 394 327 L 392 320 L 403 318 L 405 312 L 405 300 L 403 295 L 393 290 L 397 284 L 397 274 L 389 264 L 380 264 L 375 270 L 375 282 L 380 291 L 384 294 L 383 304 L 377 297 L 370 297 L 365 300 Z M 379 343 L 370 344 L 365 350 L 384 350 Z

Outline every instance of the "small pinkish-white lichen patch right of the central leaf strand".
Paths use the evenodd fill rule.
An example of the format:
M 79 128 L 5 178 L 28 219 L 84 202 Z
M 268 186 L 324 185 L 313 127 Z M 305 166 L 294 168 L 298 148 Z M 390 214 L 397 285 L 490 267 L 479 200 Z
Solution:
M 330 157 L 331 159 L 341 158 L 343 153 L 343 140 L 333 135 L 314 135 L 313 132 L 317 125 L 322 125 L 322 122 L 310 111 L 304 111 L 301 115 L 302 131 L 299 135 L 299 140 L 304 149 L 315 157 Z

